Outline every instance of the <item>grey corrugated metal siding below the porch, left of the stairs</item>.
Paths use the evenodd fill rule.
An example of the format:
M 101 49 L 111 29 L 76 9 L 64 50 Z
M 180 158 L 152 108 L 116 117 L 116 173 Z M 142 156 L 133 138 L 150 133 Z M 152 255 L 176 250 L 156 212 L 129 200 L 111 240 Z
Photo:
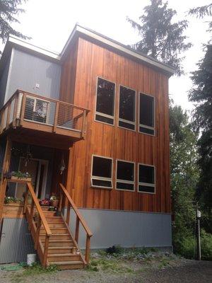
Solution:
M 4 219 L 0 243 L 0 263 L 26 262 L 35 253 L 26 219 Z

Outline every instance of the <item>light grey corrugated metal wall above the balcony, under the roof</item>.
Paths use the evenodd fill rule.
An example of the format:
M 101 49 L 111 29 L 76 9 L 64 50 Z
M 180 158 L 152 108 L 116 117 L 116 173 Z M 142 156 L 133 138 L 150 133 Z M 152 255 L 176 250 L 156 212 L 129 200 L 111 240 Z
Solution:
M 32 54 L 14 50 L 8 91 L 4 103 L 17 90 L 59 98 L 61 66 Z M 40 88 L 36 88 L 36 83 Z

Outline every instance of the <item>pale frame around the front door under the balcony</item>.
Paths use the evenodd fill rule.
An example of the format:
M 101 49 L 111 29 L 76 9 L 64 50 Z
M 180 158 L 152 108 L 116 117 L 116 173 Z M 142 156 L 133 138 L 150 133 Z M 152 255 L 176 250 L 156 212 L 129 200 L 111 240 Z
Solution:
M 20 161 L 23 160 L 23 156 L 20 156 L 19 163 L 18 163 L 18 171 L 20 171 Z M 38 161 L 38 168 L 37 168 L 37 182 L 35 187 L 35 195 L 37 196 L 38 190 L 39 190 L 39 180 L 40 180 L 40 170 L 41 166 L 45 166 L 45 171 L 43 174 L 43 180 L 42 180 L 42 190 L 41 190 L 41 199 L 45 198 L 46 190 L 47 190 L 47 174 L 48 174 L 48 168 L 49 168 L 49 161 L 45 159 L 40 158 L 30 158 L 30 160 Z M 18 189 L 18 183 L 16 183 L 16 192 Z

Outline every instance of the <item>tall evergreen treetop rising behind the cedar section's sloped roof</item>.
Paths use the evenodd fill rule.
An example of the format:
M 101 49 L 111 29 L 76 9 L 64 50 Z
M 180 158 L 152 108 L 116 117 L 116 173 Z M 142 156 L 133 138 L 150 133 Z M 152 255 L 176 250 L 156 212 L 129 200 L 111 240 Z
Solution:
M 180 54 L 192 46 L 185 43 L 187 37 L 183 35 L 188 26 L 187 21 L 173 22 L 177 14 L 172 8 L 167 8 L 167 2 L 151 0 L 151 4 L 143 9 L 144 13 L 139 17 L 141 23 L 126 18 L 131 26 L 139 31 L 141 40 L 132 47 L 146 53 L 176 69 L 176 74 L 183 74 Z

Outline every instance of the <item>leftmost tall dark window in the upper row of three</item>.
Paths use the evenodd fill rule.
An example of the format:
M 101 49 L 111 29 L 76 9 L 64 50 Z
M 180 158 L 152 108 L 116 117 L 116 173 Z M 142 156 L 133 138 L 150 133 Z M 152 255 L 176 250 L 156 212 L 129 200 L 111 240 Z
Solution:
M 95 120 L 114 125 L 115 84 L 98 78 Z

